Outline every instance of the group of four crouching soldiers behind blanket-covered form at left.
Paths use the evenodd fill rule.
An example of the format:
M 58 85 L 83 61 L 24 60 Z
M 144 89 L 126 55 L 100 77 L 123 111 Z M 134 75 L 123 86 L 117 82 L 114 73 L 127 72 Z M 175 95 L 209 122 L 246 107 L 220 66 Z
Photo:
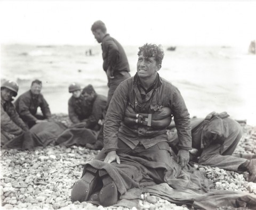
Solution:
M 18 95 L 18 90 L 19 86 L 14 81 L 5 81 L 1 85 L 1 147 L 23 132 L 29 131 L 35 124 L 53 121 L 49 104 L 41 93 L 42 81 L 34 80 L 30 90 L 12 103 L 13 97 Z M 68 100 L 68 114 L 73 123 L 70 128 L 100 130 L 107 98 L 97 94 L 92 85 L 82 89 L 78 83 L 72 83 L 68 90 L 72 93 Z M 41 108 L 42 114 L 38 114 L 38 107 Z M 98 135 L 98 138 L 102 143 L 97 149 L 101 149 L 103 134 Z

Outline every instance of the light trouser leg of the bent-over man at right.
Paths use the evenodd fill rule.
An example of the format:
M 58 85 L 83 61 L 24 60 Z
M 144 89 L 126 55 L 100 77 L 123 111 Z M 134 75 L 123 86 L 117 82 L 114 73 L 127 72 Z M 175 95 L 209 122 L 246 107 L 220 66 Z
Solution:
M 228 123 L 229 136 L 222 145 L 210 144 L 204 148 L 198 163 L 231 171 L 239 171 L 238 167 L 244 164 L 246 159 L 231 155 L 242 137 L 242 128 L 234 120 L 229 118 L 223 120 L 226 120 Z

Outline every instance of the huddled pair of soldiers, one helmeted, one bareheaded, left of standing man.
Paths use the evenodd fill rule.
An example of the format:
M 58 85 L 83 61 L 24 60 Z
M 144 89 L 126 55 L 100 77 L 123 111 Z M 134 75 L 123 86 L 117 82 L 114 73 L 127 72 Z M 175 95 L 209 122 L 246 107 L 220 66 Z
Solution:
M 92 85 L 81 90 L 77 83 L 69 86 L 69 93 L 72 96 L 68 102 L 68 113 L 70 120 L 75 123 L 72 127 L 95 129 L 99 120 L 103 119 L 107 98 L 97 94 Z

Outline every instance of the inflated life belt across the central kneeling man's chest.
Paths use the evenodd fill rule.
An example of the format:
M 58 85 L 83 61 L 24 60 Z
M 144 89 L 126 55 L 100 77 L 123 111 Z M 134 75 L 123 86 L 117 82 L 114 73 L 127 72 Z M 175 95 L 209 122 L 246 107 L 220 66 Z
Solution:
M 155 128 L 166 128 L 172 121 L 172 112 L 169 107 L 162 107 L 154 114 L 135 113 L 130 105 L 127 105 L 124 113 L 124 124 L 145 125 Z

